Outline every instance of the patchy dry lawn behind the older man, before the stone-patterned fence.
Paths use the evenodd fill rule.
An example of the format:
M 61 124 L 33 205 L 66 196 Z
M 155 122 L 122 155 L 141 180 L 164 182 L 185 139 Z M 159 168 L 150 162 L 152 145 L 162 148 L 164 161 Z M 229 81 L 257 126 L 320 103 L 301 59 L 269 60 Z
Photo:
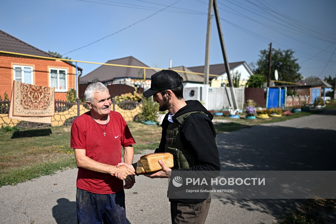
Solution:
M 128 122 L 136 141 L 134 153 L 156 149 L 161 127 Z M 0 129 L 0 186 L 15 185 L 58 170 L 76 167 L 70 148 L 71 127 Z M 123 150 L 122 150 L 123 154 Z

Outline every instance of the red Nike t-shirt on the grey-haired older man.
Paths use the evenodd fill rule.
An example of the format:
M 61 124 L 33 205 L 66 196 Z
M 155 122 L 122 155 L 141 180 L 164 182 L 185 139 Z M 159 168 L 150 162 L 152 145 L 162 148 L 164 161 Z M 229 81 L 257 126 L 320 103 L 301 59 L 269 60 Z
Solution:
M 117 165 L 121 162 L 121 146 L 135 141 L 120 113 L 111 111 L 110 121 L 98 124 L 90 111 L 77 117 L 71 126 L 71 148 L 85 149 L 86 156 L 101 163 Z M 99 127 L 99 126 L 101 127 Z M 106 130 L 105 130 L 106 127 Z M 104 136 L 104 130 L 106 136 Z M 77 187 L 92 193 L 111 194 L 123 189 L 123 181 L 111 174 L 104 174 L 78 167 Z

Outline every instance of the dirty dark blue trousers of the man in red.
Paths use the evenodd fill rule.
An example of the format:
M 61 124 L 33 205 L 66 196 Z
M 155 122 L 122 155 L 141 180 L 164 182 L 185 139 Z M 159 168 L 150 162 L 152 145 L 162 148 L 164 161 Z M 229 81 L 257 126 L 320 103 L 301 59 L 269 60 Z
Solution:
M 95 194 L 77 188 L 77 223 L 126 224 L 124 189 L 114 194 Z

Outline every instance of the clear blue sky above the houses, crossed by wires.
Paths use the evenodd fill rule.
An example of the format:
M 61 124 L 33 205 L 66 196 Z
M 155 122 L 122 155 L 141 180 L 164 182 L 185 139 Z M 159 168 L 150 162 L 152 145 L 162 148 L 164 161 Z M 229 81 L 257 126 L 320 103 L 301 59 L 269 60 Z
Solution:
M 0 29 L 42 50 L 64 54 L 128 27 L 176 1 L 2 0 Z M 303 76 L 335 76 L 336 1 L 217 2 L 229 62 L 255 63 L 259 51 L 272 42 L 275 48 L 296 51 Z M 207 0 L 180 0 L 173 5 L 178 8 L 169 7 L 65 56 L 104 63 L 132 55 L 150 67 L 159 68 L 167 68 L 169 59 L 173 60 L 173 66 L 204 65 L 207 5 Z M 266 7 L 270 14 L 264 11 Z M 210 64 L 218 63 L 223 63 L 223 58 L 213 19 Z M 84 75 L 98 67 L 78 65 L 84 69 Z

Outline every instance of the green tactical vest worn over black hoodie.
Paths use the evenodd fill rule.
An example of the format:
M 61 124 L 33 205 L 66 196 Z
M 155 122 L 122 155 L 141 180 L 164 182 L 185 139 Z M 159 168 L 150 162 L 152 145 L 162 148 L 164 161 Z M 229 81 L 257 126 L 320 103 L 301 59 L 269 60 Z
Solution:
M 202 111 L 193 111 L 176 117 L 178 123 L 169 121 L 166 132 L 165 152 L 169 152 L 174 156 L 174 167 L 172 169 L 190 169 L 191 166 L 195 165 L 194 151 L 183 148 L 180 140 L 180 125 L 193 113 L 201 113 L 208 116 Z

